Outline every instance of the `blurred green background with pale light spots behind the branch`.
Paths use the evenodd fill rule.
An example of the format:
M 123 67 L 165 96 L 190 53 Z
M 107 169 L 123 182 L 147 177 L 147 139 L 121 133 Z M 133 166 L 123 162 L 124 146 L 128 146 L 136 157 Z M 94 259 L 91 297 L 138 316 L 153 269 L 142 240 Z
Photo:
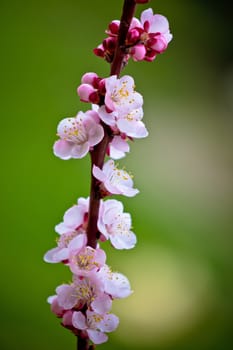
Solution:
M 130 62 L 150 135 L 120 164 L 138 245 L 108 263 L 134 294 L 115 302 L 119 329 L 99 349 L 233 348 L 233 45 L 230 1 L 151 1 L 174 40 L 153 63 Z M 82 74 L 108 76 L 92 54 L 122 1 L 1 0 L 2 350 L 75 349 L 46 303 L 70 273 L 43 262 L 55 224 L 89 194 L 90 162 L 52 154 L 60 119 L 86 110 Z M 147 6 L 138 6 L 137 15 Z

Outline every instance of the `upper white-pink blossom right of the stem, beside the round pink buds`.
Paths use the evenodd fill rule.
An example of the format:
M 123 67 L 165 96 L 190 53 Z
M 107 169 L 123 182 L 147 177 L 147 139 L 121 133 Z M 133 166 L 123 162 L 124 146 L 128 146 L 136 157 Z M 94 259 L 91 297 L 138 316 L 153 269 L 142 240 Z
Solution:
M 105 106 L 111 111 L 119 113 L 141 108 L 143 105 L 142 95 L 135 92 L 134 79 L 129 75 L 117 78 L 112 75 L 105 79 Z

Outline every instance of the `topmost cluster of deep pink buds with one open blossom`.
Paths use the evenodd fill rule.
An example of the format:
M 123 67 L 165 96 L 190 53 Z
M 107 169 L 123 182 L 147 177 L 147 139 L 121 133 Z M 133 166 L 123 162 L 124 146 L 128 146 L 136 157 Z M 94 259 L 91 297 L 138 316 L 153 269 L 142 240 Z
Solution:
M 140 3 L 143 2 L 146 1 Z M 119 28 L 120 21 L 112 21 L 106 30 L 108 37 L 94 49 L 97 56 L 103 57 L 109 63 L 114 58 Z M 130 57 L 134 61 L 153 61 L 158 54 L 166 50 L 171 39 L 172 34 L 169 31 L 166 17 L 158 14 L 154 15 L 151 8 L 143 11 L 140 20 L 134 17 L 129 27 L 124 48 L 124 64 L 127 63 Z

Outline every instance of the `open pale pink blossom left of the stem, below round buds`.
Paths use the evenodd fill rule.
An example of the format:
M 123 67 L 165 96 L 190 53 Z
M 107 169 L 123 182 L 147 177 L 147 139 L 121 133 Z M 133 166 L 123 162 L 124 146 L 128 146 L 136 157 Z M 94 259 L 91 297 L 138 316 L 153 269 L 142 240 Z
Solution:
M 79 112 L 75 118 L 65 118 L 57 128 L 60 140 L 54 154 L 61 159 L 83 158 L 104 137 L 103 127 L 95 111 Z

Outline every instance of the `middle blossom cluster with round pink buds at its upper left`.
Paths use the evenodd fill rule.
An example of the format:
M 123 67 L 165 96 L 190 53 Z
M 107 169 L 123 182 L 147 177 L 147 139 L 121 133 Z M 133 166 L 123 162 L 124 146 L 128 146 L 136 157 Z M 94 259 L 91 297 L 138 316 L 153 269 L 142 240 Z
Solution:
M 148 135 L 142 122 L 143 98 L 135 91 L 134 79 L 129 75 L 120 79 L 116 75 L 101 78 L 89 72 L 82 77 L 77 92 L 81 101 L 92 104 L 92 109 L 58 124 L 60 139 L 54 144 L 56 156 L 83 158 L 103 139 L 103 124 L 110 128 L 113 136 L 107 149 L 107 155 L 113 159 L 120 159 L 129 152 L 127 141 Z

